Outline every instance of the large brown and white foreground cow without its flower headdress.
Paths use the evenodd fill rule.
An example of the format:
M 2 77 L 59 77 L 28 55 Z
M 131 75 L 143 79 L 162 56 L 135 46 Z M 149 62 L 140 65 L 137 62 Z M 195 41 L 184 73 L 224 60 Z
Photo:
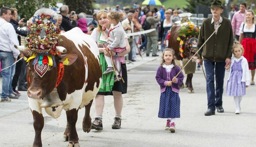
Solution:
M 48 115 L 58 118 L 62 109 L 66 111 L 67 127 L 64 132 L 64 141 L 69 140 L 68 147 L 79 147 L 79 138 L 75 129 L 79 108 L 85 107 L 83 131 L 89 133 L 91 129 L 90 107 L 92 100 L 98 93 L 102 80 L 102 70 L 99 62 L 99 50 L 91 36 L 84 34 L 79 28 L 74 28 L 60 35 L 62 42 L 59 46 L 67 52 L 56 55 L 58 64 L 67 60 L 69 65 L 64 66 L 64 74 L 60 84 L 56 87 L 60 100 L 64 105 L 45 108 Z M 28 58 L 27 51 L 22 51 Z M 77 59 L 76 59 L 77 57 Z M 76 61 L 75 61 L 76 59 Z M 28 101 L 34 118 L 35 138 L 33 147 L 42 147 L 41 131 L 44 127 L 41 103 L 46 95 L 51 93 L 57 81 L 57 68 L 50 67 L 43 77 L 40 77 L 33 68 L 34 59 L 28 62 Z

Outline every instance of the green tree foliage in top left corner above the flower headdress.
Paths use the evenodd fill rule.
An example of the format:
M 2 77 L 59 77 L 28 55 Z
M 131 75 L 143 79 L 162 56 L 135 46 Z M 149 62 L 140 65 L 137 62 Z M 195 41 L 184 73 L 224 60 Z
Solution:
M 20 18 L 31 18 L 40 8 L 56 7 L 58 0 L 0 0 L 0 7 L 13 7 L 18 10 Z

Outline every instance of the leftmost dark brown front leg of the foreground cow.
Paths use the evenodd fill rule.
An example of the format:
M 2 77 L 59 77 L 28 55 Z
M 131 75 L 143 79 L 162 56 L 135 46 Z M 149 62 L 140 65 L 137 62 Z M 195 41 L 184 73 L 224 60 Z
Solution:
M 34 118 L 33 125 L 35 130 L 33 147 L 42 147 L 41 132 L 44 127 L 44 117 L 42 114 L 38 113 L 37 111 L 32 111 L 32 115 Z

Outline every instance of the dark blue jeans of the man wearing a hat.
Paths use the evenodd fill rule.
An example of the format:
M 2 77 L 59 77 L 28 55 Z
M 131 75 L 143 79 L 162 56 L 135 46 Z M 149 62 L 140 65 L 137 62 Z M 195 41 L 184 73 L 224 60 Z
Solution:
M 215 107 L 222 106 L 223 83 L 225 76 L 226 62 L 204 61 L 206 71 L 206 90 L 208 109 L 215 110 Z M 215 78 L 214 78 L 215 75 Z M 214 84 L 216 82 L 216 89 Z

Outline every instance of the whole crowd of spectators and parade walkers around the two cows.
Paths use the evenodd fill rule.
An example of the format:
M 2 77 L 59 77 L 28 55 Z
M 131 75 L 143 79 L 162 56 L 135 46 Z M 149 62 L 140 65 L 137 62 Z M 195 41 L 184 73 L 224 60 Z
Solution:
M 198 63 L 200 65 L 204 63 L 206 70 L 208 108 L 204 115 L 207 116 L 215 115 L 215 109 L 217 112 L 224 112 L 222 93 L 225 69 L 230 70 L 227 95 L 234 96 L 236 114 L 240 113 L 241 99 L 245 95 L 245 87 L 249 86 L 247 68 L 251 70 L 250 85 L 255 84 L 256 24 L 254 13 L 247 11 L 246 4 L 242 3 L 237 12 L 236 7 L 232 6 L 228 19 L 221 16 L 223 8 L 219 0 L 211 4 L 213 17 L 203 21 L 198 36 L 199 49 L 211 36 L 212 30 L 215 30 L 215 35 L 198 53 Z M 181 9 L 165 9 L 164 6 L 158 11 L 157 8 L 140 7 L 138 4 L 124 9 L 116 5 L 112 10 L 94 13 L 92 20 L 87 22 L 87 14 L 84 12 L 75 14 L 75 11 L 70 11 L 67 5 L 60 7 L 57 25 L 60 26 L 61 32 L 67 32 L 75 27 L 80 28 L 84 33 L 92 36 L 100 52 L 102 85 L 95 98 L 96 115 L 92 122 L 92 129 L 103 129 L 104 96 L 107 95 L 113 95 L 116 112 L 112 128 L 120 129 L 121 127 L 122 94 L 127 93 L 125 60 L 135 62 L 136 54 L 140 51 L 145 51 L 146 57 L 149 57 L 152 50 L 151 56 L 158 57 L 158 50 L 162 50 L 162 62 L 156 75 L 161 88 L 158 117 L 167 118 L 166 129 L 175 132 L 175 118 L 180 117 L 179 85 L 184 76 L 182 72 L 178 77 L 175 76 L 181 69 L 175 64 L 174 51 L 166 47 L 168 47 L 167 37 L 171 34 L 172 26 L 178 21 L 184 21 L 179 17 L 181 13 Z M 17 9 L 8 7 L 0 9 L 1 68 L 9 67 L 17 59 L 22 58 L 20 52 L 14 48 L 14 44 L 21 45 L 20 36 L 26 37 L 27 32 L 26 29 L 21 29 L 21 25 L 25 24 L 24 19 L 18 21 L 17 18 Z M 152 31 L 146 34 L 126 36 L 126 34 L 150 29 Z M 19 36 L 17 37 L 16 34 Z M 233 43 L 234 39 L 237 42 Z M 158 44 L 161 44 L 161 48 L 158 48 Z M 125 59 L 126 54 L 128 54 L 127 59 Z M 18 90 L 27 90 L 25 73 L 26 62 L 23 59 L 15 66 L 1 72 L 1 102 L 17 99 L 21 95 Z M 238 86 L 237 83 L 239 83 Z M 17 85 L 18 90 L 16 90 Z M 239 93 L 234 93 L 234 91 Z

